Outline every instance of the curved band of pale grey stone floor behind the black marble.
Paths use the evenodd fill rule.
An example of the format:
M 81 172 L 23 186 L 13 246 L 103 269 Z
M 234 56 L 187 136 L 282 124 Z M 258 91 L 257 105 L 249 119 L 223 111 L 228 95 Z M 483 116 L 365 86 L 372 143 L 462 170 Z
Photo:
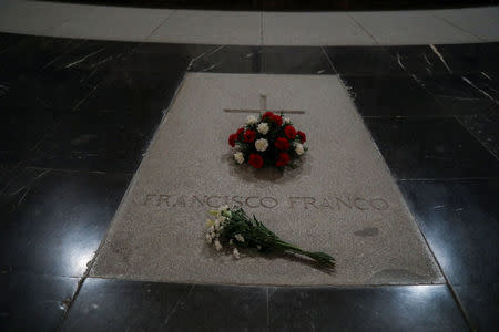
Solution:
M 1 0 L 0 31 L 93 40 L 231 45 L 424 45 L 499 41 L 499 7 L 495 0 L 238 1 L 264 6 L 252 11 L 242 11 L 235 1 L 196 1 L 210 10 L 190 10 L 195 8 L 190 6 L 194 4 L 191 0 L 82 1 L 86 3 Z M 425 1 L 431 2 L 432 9 L 400 10 L 404 4 L 407 9 L 428 8 Z M 166 8 L 147 8 L 153 2 Z M 175 2 L 180 2 L 179 6 Z M 227 8 L 222 6 L 228 10 L 214 10 L 220 9 L 217 3 L 223 4 L 221 2 L 231 2 Z M 476 7 L 461 8 L 470 2 Z M 113 3 L 120 7 L 112 7 Z M 316 8 L 322 11 L 306 12 L 314 10 L 314 6 L 307 9 L 308 3 L 322 4 L 323 8 Z M 327 8 L 328 4 L 332 7 Z M 342 6 L 343 10 L 335 9 L 334 4 Z M 485 7 L 477 7 L 480 4 Z

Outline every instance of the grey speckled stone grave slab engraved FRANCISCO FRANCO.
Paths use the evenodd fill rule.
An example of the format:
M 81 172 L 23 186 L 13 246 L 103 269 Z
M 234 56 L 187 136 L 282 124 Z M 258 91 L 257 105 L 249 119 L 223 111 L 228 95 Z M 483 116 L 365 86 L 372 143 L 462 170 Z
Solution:
M 258 108 L 294 114 L 303 165 L 237 167 L 227 136 Z M 243 255 L 204 241 L 206 210 L 243 203 L 282 238 L 334 255 L 334 273 L 304 260 Z M 276 206 L 275 206 L 276 205 Z M 275 206 L 275 207 L 273 207 Z M 233 284 L 439 283 L 442 277 L 337 76 L 187 74 L 114 217 L 93 277 Z

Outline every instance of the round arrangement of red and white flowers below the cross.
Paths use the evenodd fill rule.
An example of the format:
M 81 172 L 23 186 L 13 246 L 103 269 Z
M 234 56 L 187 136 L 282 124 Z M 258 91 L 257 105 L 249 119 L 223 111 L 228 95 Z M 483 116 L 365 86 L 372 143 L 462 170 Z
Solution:
M 294 166 L 307 151 L 305 133 L 296 131 L 289 117 L 272 112 L 258 117 L 248 116 L 246 125 L 228 136 L 228 145 L 236 148 L 235 162 L 254 168 Z

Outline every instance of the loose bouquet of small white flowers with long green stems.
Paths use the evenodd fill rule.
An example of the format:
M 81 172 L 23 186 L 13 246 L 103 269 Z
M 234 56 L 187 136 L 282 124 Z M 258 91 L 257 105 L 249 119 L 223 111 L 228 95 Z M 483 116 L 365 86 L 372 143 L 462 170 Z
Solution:
M 317 262 L 322 268 L 334 269 L 335 259 L 320 251 L 306 251 L 281 239 L 265 225 L 249 217 L 242 208 L 230 209 L 224 206 L 217 210 L 211 210 L 215 219 L 208 219 L 206 240 L 214 245 L 216 250 L 224 247 L 233 249 L 234 257 L 238 258 L 237 248 L 255 248 L 263 253 L 292 252 L 306 256 Z

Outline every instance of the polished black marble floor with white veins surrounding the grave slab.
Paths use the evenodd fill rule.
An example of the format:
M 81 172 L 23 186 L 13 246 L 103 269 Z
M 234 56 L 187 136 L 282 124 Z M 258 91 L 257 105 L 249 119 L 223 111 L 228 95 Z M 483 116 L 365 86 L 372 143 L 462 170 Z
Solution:
M 495 331 L 498 43 L 285 48 L 0 34 L 0 329 Z M 88 278 L 186 71 L 340 74 L 447 283 Z

